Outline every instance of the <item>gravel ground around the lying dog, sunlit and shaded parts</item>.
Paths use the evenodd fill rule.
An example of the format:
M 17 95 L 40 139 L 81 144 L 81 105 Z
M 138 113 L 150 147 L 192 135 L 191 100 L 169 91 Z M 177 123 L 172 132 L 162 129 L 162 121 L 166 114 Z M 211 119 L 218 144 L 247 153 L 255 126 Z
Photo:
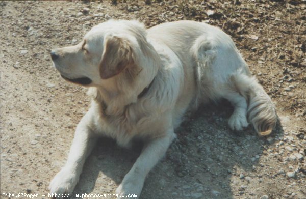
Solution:
M 280 121 L 269 137 L 251 127 L 232 132 L 228 102 L 202 107 L 176 130 L 142 198 L 306 198 L 305 9 L 305 1 L 292 0 L 0 2 L 0 198 L 47 198 L 90 104 L 86 89 L 61 79 L 49 51 L 78 43 L 110 18 L 147 27 L 182 19 L 219 26 L 271 96 Z M 75 193 L 112 193 L 138 155 L 139 147 L 126 151 L 100 140 Z

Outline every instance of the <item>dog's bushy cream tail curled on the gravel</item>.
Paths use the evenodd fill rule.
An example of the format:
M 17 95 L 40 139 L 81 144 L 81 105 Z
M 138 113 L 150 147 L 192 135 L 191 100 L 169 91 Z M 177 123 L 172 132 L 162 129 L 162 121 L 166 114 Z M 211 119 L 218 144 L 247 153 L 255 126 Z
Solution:
M 269 135 L 277 122 L 271 98 L 254 77 L 235 75 L 235 86 L 248 101 L 248 121 L 259 134 Z

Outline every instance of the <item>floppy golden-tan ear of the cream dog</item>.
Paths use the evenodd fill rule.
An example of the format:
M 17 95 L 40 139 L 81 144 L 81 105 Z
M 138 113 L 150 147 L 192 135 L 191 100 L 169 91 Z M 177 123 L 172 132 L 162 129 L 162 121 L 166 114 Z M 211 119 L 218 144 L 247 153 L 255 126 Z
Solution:
M 100 77 L 108 79 L 133 64 L 134 60 L 129 40 L 118 36 L 106 36 L 100 62 Z

